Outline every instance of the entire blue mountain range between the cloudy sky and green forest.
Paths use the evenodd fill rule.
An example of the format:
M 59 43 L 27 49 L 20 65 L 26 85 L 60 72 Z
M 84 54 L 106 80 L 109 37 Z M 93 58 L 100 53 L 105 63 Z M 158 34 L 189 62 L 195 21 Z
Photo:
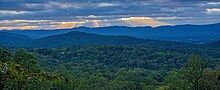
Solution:
M 65 30 L 0 31 L 0 44 L 9 47 L 62 47 L 70 45 L 143 45 L 174 42 L 219 43 L 220 24 L 161 27 L 79 27 Z M 210 43 L 209 43 L 210 44 Z M 162 44 L 161 44 L 162 45 Z

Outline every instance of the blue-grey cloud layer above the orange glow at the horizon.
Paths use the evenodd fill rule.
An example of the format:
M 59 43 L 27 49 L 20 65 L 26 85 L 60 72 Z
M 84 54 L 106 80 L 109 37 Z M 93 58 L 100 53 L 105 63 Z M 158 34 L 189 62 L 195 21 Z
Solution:
M 0 0 L 0 19 L 81 20 L 89 15 L 100 19 L 122 16 L 204 18 L 219 20 L 220 0 Z M 82 16 L 82 18 L 77 18 Z M 194 17 L 194 18 L 191 18 Z M 174 22 L 181 22 L 178 18 Z

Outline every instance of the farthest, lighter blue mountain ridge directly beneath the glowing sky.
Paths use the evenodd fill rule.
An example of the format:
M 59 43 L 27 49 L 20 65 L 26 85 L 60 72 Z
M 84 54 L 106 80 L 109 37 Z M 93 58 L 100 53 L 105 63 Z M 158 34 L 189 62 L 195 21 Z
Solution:
M 220 40 L 220 23 L 210 25 L 176 25 L 160 27 L 125 27 L 111 26 L 100 28 L 78 27 L 73 29 L 57 30 L 12 30 L 4 31 L 9 33 L 21 34 L 33 38 L 59 35 L 71 31 L 80 31 L 100 35 L 123 35 L 142 39 L 180 41 L 192 43 L 204 43 Z M 2 31 L 0 31 L 2 32 Z

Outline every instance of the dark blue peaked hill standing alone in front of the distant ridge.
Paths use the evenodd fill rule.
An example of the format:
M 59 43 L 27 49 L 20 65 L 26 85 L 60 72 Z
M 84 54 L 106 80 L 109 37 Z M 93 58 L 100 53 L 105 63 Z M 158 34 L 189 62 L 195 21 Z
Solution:
M 70 33 L 54 35 L 34 40 L 28 44 L 30 47 L 62 47 L 70 45 L 112 45 L 126 44 L 138 45 L 154 40 L 139 39 L 128 36 L 106 36 L 98 34 L 72 31 Z

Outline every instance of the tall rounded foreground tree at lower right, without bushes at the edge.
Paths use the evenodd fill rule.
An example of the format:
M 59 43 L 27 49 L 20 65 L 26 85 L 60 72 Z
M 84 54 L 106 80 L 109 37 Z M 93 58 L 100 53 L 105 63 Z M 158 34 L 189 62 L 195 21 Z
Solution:
M 199 83 L 207 64 L 208 60 L 198 55 L 192 55 L 183 68 L 165 78 L 165 85 L 171 90 L 199 90 Z

